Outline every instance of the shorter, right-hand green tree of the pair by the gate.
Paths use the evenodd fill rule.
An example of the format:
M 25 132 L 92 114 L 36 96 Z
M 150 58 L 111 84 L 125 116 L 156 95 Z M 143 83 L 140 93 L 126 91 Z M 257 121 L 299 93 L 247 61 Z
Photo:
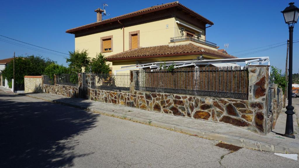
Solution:
M 91 59 L 89 65 L 91 67 L 91 72 L 94 74 L 107 74 L 111 71 L 109 67 L 110 64 L 107 64 L 107 61 L 102 53 L 97 53 L 97 56 Z

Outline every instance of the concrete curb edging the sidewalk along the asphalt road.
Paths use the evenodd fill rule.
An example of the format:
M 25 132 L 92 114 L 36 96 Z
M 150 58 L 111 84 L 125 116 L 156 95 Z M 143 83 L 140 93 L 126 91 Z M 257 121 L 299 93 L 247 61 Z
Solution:
M 58 104 L 66 105 L 66 106 L 71 106 L 71 107 L 78 108 L 78 109 L 88 110 L 88 111 L 95 112 L 95 113 L 114 115 L 114 116 L 120 117 L 120 118 L 123 117 L 123 113 L 120 113 L 120 112 L 104 112 L 104 111 L 96 109 L 96 108 L 77 106 L 77 105 L 74 105 L 71 103 L 49 100 L 49 99 L 45 99 L 45 98 L 41 98 L 41 97 L 35 97 L 33 95 L 27 95 L 27 94 L 21 94 L 21 95 L 45 100 L 45 101 L 52 102 L 52 103 L 58 103 Z M 147 124 L 149 122 L 148 118 L 136 117 L 136 116 L 131 116 L 131 115 L 126 115 L 126 118 L 131 118 L 132 120 L 130 119 L 130 121 L 137 121 L 139 123 L 144 123 L 144 124 Z M 299 148 L 288 148 L 288 147 L 285 147 L 285 146 L 282 146 L 279 144 L 275 145 L 275 144 L 270 144 L 270 143 L 265 143 L 265 142 L 259 142 L 256 140 L 241 138 L 241 137 L 237 137 L 237 136 L 218 134 L 216 132 L 205 132 L 205 131 L 200 131 L 200 130 L 193 129 L 190 127 L 179 126 L 179 125 L 174 125 L 174 124 L 170 124 L 170 123 L 152 121 L 151 125 L 166 128 L 166 129 L 172 129 L 174 131 L 184 132 L 187 134 L 197 135 L 202 138 L 222 141 L 224 143 L 232 144 L 232 145 L 239 146 L 239 147 L 249 148 L 249 149 L 261 150 L 261 151 L 267 151 L 267 152 L 275 152 L 275 153 L 299 153 Z

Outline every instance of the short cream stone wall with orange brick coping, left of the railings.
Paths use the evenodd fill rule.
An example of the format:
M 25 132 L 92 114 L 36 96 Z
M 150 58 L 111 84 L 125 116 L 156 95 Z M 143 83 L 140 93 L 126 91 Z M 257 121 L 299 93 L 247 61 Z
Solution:
M 42 76 L 25 76 L 24 86 L 25 86 L 24 93 L 41 93 Z

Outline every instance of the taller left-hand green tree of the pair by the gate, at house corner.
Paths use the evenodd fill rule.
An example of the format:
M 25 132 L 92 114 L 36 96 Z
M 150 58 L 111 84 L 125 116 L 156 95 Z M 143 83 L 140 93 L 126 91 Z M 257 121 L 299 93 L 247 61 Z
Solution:
M 69 51 L 70 57 L 66 58 L 71 73 L 82 73 L 82 68 L 89 69 L 89 58 L 87 50 Z

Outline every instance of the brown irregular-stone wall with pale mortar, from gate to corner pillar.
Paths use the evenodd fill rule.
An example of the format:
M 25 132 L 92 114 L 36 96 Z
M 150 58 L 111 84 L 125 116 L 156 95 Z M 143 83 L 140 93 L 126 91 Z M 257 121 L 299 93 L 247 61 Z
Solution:
M 89 98 L 104 103 L 228 123 L 265 135 L 269 66 L 249 66 L 248 73 L 248 100 L 136 91 L 134 71 L 131 71 L 130 93 L 90 88 Z

